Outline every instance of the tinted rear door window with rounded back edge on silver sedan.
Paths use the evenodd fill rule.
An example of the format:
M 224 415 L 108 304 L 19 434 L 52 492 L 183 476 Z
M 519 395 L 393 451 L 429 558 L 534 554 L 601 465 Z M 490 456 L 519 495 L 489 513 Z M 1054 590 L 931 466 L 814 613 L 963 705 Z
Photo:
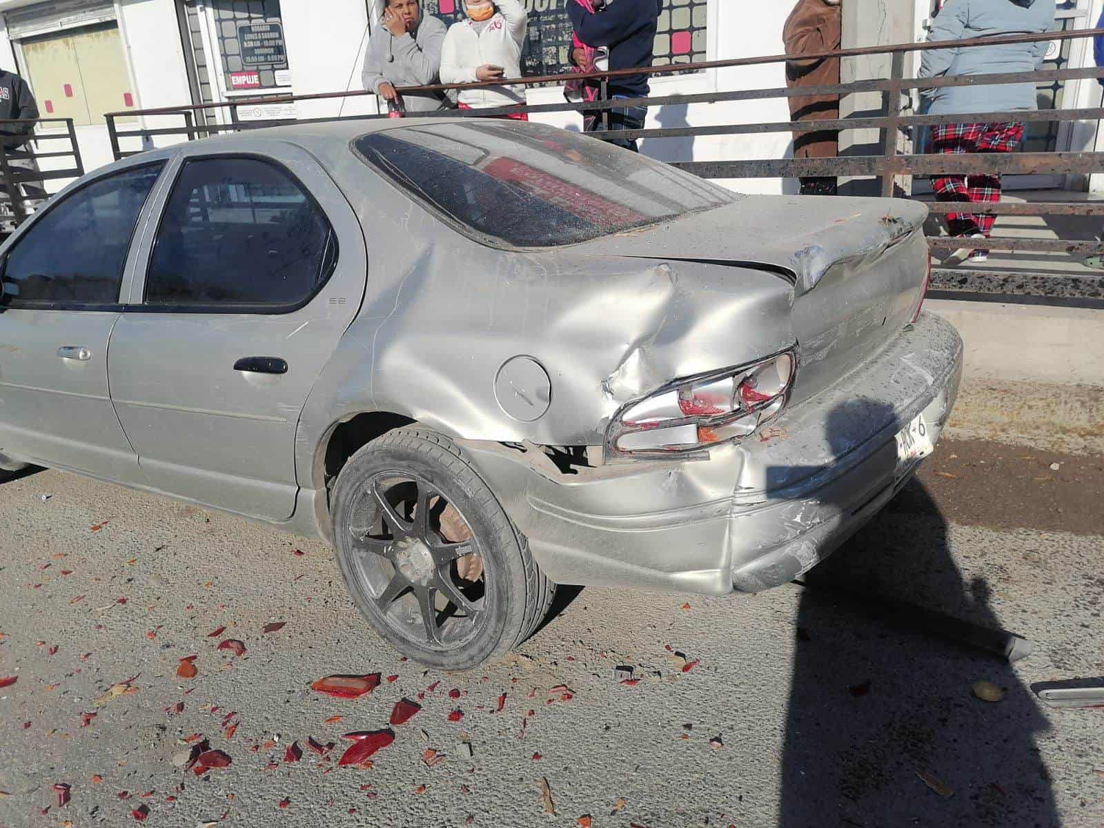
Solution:
M 290 309 L 321 289 L 337 241 L 290 173 L 256 158 L 185 162 L 158 230 L 146 304 Z

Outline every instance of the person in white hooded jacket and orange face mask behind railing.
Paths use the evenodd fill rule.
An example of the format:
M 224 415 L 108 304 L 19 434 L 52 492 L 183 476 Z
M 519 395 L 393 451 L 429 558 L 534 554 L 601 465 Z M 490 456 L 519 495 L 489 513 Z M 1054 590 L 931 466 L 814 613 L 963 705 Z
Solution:
M 468 0 L 467 20 L 454 23 L 440 54 L 445 84 L 521 77 L 521 47 L 528 18 L 521 0 Z M 488 109 L 526 103 L 524 87 L 485 86 L 459 91 L 461 109 Z M 528 119 L 523 115 L 510 116 Z

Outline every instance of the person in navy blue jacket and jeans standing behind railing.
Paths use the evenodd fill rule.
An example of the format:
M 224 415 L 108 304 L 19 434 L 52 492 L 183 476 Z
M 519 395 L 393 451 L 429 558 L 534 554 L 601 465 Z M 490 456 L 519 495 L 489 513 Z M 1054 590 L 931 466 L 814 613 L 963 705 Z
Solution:
M 656 49 L 656 29 L 662 0 L 617 0 L 587 11 L 576 2 L 567 3 L 567 17 L 575 34 L 593 49 L 609 50 L 609 68 L 651 66 Z M 623 75 L 609 78 L 609 97 L 643 98 L 649 92 L 648 76 Z M 643 106 L 623 106 L 609 110 L 611 129 L 644 129 L 648 110 Z M 603 129 L 602 118 L 595 118 L 593 129 Z M 612 139 L 611 144 L 637 151 L 635 140 Z

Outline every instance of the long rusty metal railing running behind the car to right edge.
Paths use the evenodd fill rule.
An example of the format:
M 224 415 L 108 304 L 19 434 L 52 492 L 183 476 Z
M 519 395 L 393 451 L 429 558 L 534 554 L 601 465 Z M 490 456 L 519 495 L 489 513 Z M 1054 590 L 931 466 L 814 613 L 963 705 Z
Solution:
M 911 100 L 914 91 L 928 88 L 946 88 L 958 86 L 996 86 L 1017 83 L 1062 83 L 1069 81 L 1102 78 L 1104 70 L 1091 68 L 1063 68 L 1048 70 L 1027 73 L 1002 73 L 992 75 L 953 76 L 937 78 L 907 78 L 905 77 L 905 55 L 910 52 L 922 52 L 928 50 L 964 49 L 969 46 L 991 46 L 1012 43 L 1033 43 L 1038 41 L 1069 41 L 1074 39 L 1093 38 L 1104 34 L 1104 30 L 1083 30 L 1069 32 L 1049 32 L 1042 35 L 1019 34 L 1005 35 L 999 38 L 985 38 L 976 40 L 964 40 L 940 43 L 901 43 L 884 46 L 869 46 L 861 49 L 845 49 L 831 52 L 820 52 L 804 55 L 768 55 L 757 57 L 742 57 L 724 61 L 707 61 L 692 64 L 675 64 L 669 66 L 656 66 L 645 70 L 622 70 L 609 72 L 595 72 L 591 74 L 569 74 L 569 75 L 542 75 L 537 77 L 511 78 L 513 85 L 546 85 L 550 83 L 564 83 L 566 81 L 577 81 L 593 78 L 602 84 L 601 98 L 593 103 L 562 103 L 535 106 L 506 106 L 492 109 L 480 110 L 444 110 L 426 114 L 426 117 L 476 117 L 487 115 L 509 115 L 513 113 L 527 113 L 529 115 L 541 115 L 552 113 L 577 112 L 597 113 L 605 127 L 602 131 L 591 132 L 595 138 L 617 137 L 622 139 L 673 139 L 673 138 L 702 138 L 711 136 L 735 136 L 735 135 L 765 135 L 772 132 L 820 132 L 820 131 L 845 131 L 845 130 L 879 130 L 877 144 L 877 155 L 862 155 L 839 158 L 815 158 L 815 159 L 755 159 L 755 160 L 715 160 L 715 161 L 680 161 L 672 166 L 691 172 L 696 176 L 708 179 L 749 179 L 749 178 L 798 178 L 798 177 L 853 177 L 853 178 L 875 178 L 880 181 L 880 191 L 883 195 L 892 195 L 895 191 L 894 182 L 899 177 L 931 177 L 942 174 L 979 174 L 979 173 L 1004 173 L 1004 174 L 1090 174 L 1093 172 L 1104 172 L 1104 152 L 1015 152 L 1015 153 L 946 153 L 946 155 L 911 155 L 902 153 L 899 149 L 899 136 L 905 130 L 916 130 L 921 127 L 934 126 L 938 124 L 956 124 L 968 119 L 969 123 L 1040 123 L 1040 121 L 1083 121 L 1098 120 L 1104 117 L 1104 107 L 1087 107 L 1078 109 L 1049 109 L 1041 112 L 992 112 L 970 114 L 968 118 L 963 115 L 907 115 L 905 114 L 905 103 Z M 784 63 L 790 60 L 819 60 L 831 57 L 860 57 L 870 55 L 888 55 L 890 57 L 890 71 L 888 77 L 868 81 L 858 81 L 848 84 L 834 84 L 817 87 L 789 88 L 764 88 L 764 89 L 733 89 L 718 91 L 698 94 L 658 95 L 634 99 L 608 99 L 607 86 L 611 78 L 623 75 L 648 74 L 651 76 L 684 74 L 688 72 L 702 72 L 722 68 L 735 68 L 741 66 L 756 66 L 772 63 Z M 429 86 L 404 87 L 399 92 L 444 92 L 446 89 L 466 89 L 496 86 L 492 82 L 473 84 L 436 84 Z M 724 124 L 711 126 L 686 126 L 673 128 L 645 128 L 638 130 L 608 131 L 609 110 L 614 107 L 625 106 L 690 106 L 690 105 L 714 105 L 721 102 L 751 102 L 771 98 L 788 98 L 793 96 L 847 96 L 862 93 L 872 93 L 881 96 L 881 110 L 874 117 L 862 114 L 858 117 L 843 117 L 836 119 L 802 120 L 802 121 L 773 121 L 760 124 Z M 194 140 L 197 138 L 215 135 L 226 131 L 243 131 L 247 129 L 258 129 L 264 127 L 284 125 L 288 123 L 311 124 L 328 123 L 336 120 L 357 120 L 385 118 L 386 115 L 353 115 L 344 117 L 309 118 L 309 119 L 274 119 L 259 121 L 238 121 L 236 110 L 238 107 L 270 106 L 277 104 L 295 104 L 309 100 L 325 100 L 335 98 L 355 98 L 372 95 L 370 92 L 335 92 L 320 93 L 314 95 L 279 96 L 267 98 L 251 98 L 247 100 L 232 100 L 215 104 L 198 104 L 180 107 L 162 107 L 156 109 L 127 110 L 125 113 L 109 113 L 106 115 L 108 136 L 112 149 L 117 159 L 135 155 L 138 150 L 123 149 L 121 141 L 139 139 L 142 147 L 150 146 L 158 137 L 177 137 Z M 235 123 L 212 124 L 198 123 L 197 114 L 216 109 L 229 109 Z M 155 116 L 174 116 L 183 119 L 179 126 L 157 127 L 157 128 L 134 128 L 119 129 L 117 118 L 134 118 L 136 116 L 150 118 Z M 423 114 L 418 114 L 423 117 Z M 932 203 L 930 208 L 935 214 L 946 214 L 949 212 L 969 212 L 972 214 L 991 215 L 1019 215 L 1019 216 L 1104 216 L 1104 202 L 1082 202 L 1082 203 L 1005 203 L 1005 204 L 970 204 L 965 206 L 960 202 L 955 203 Z M 934 251 L 955 248 L 963 246 L 963 240 L 949 238 L 947 236 L 934 235 L 928 237 Z M 1083 238 L 1022 238 L 994 236 L 978 243 L 978 247 L 991 251 L 1007 252 L 1036 252 L 1044 254 L 1063 253 L 1071 256 L 1104 255 L 1104 244 L 1093 240 Z M 1069 273 L 1053 274 L 1042 272 L 1026 270 L 972 270 L 963 267 L 940 268 L 933 272 L 933 285 L 936 290 L 953 290 L 964 293 L 972 298 L 1007 298 L 1021 297 L 1034 298 L 1038 300 L 1053 301 L 1057 304 L 1081 304 L 1104 307 L 1104 273 L 1100 275 L 1086 272 L 1075 265 L 1073 261 Z

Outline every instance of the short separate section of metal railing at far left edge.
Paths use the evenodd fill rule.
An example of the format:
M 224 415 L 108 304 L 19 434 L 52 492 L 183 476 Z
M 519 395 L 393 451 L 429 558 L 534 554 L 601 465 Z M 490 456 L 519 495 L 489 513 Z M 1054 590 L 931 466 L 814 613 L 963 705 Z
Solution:
M 39 132 L 35 127 L 64 128 L 64 132 Z M 67 146 L 57 147 L 59 141 Z M 71 159 L 72 163 L 43 170 L 40 161 L 49 159 Z M 46 181 L 83 174 L 84 161 L 72 118 L 0 119 L 0 237 L 11 233 L 45 200 Z

